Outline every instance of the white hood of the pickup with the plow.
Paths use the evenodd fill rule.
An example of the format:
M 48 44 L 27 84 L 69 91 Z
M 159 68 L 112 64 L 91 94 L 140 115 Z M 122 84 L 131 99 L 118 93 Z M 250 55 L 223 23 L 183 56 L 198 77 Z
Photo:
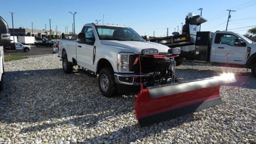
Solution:
M 118 47 L 121 48 L 123 52 L 133 52 L 134 54 L 141 54 L 141 50 L 146 48 L 156 48 L 160 54 L 166 54 L 168 53 L 168 49 L 170 49 L 168 46 L 154 42 L 106 40 L 102 41 L 102 44 Z

